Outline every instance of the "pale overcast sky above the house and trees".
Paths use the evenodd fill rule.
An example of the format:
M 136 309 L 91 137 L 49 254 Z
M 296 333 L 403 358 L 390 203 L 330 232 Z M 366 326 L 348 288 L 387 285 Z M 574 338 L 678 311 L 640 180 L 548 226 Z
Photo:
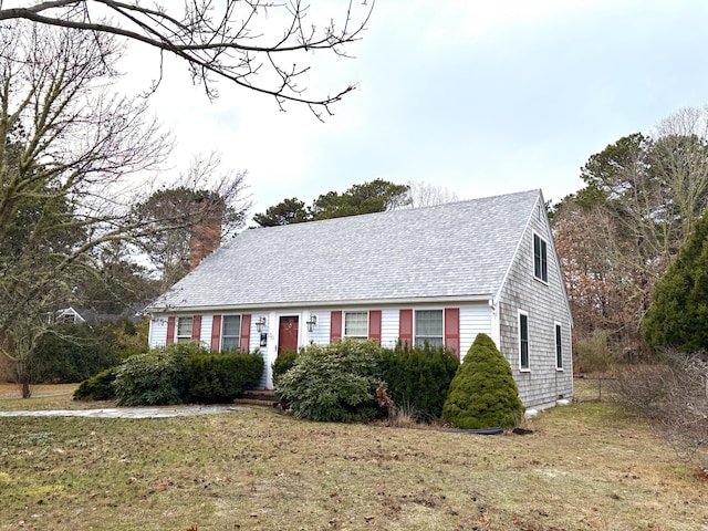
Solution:
M 376 178 L 559 200 L 591 155 L 708 103 L 707 27 L 705 0 L 378 0 L 356 59 L 313 58 L 311 93 L 358 84 L 324 124 L 227 82 L 210 103 L 178 63 L 153 108 L 175 171 L 221 152 L 248 170 L 253 212 Z

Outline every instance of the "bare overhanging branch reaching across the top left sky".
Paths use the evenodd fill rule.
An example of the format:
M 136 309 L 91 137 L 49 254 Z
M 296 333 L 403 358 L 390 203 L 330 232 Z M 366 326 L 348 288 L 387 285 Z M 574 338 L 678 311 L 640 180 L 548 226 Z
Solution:
M 329 50 L 347 55 L 360 40 L 374 0 L 341 2 L 339 19 L 325 17 L 301 0 L 194 0 L 183 7 L 146 7 L 115 0 L 32 1 L 4 8 L 0 20 L 24 19 L 72 28 L 90 34 L 107 33 L 185 60 L 195 84 L 209 97 L 218 95 L 215 81 L 310 106 L 315 115 L 354 90 L 348 85 L 325 96 L 309 96 L 300 84 L 310 70 L 311 52 Z M 321 6 L 319 7 L 321 9 Z M 160 59 L 160 76 L 162 76 Z

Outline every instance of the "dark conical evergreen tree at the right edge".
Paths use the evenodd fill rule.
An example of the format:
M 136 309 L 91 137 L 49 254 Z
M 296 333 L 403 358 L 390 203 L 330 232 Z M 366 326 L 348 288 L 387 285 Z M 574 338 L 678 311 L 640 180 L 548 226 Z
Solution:
M 695 222 L 676 261 L 656 283 L 643 332 L 654 350 L 708 348 L 708 217 Z

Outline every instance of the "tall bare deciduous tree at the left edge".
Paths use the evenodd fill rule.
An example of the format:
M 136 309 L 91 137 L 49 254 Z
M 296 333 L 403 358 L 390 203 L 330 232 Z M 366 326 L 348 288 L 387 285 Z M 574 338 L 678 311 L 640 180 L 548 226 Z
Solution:
M 119 46 L 107 34 L 3 28 L 0 42 L 0 353 L 27 365 L 98 248 L 144 236 L 119 197 L 171 148 L 146 102 L 111 93 Z M 133 181 L 133 186 L 135 183 Z

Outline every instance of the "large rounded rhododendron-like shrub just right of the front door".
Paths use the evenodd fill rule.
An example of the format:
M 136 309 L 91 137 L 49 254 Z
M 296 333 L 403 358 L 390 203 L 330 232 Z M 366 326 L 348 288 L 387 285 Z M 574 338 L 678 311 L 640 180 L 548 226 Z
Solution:
M 294 416 L 320 421 L 348 421 L 382 415 L 374 394 L 382 347 L 375 342 L 344 340 L 310 345 L 279 378 L 275 393 Z

